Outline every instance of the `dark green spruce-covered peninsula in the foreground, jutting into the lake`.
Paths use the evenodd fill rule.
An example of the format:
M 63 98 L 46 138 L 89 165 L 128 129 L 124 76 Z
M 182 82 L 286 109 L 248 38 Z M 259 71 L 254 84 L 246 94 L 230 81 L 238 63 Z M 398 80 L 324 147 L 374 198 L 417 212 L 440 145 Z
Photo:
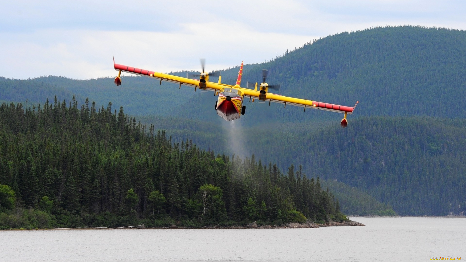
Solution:
M 301 168 L 215 155 L 123 113 L 0 106 L 0 228 L 184 227 L 346 220 Z

